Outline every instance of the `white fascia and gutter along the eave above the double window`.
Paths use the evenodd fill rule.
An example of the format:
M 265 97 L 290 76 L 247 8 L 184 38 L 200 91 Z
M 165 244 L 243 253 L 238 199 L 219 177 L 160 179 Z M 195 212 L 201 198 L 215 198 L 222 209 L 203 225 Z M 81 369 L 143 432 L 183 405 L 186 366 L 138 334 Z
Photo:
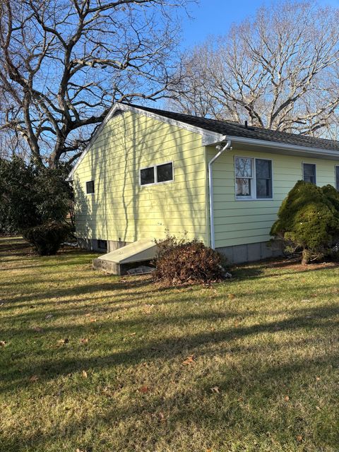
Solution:
M 268 152 L 284 151 L 287 155 L 303 155 L 316 158 L 323 158 L 326 160 L 339 160 L 339 150 L 327 150 L 321 148 L 310 148 L 307 146 L 298 146 L 287 143 L 279 143 L 277 141 L 256 140 L 255 138 L 242 138 L 239 136 L 227 136 L 232 143 L 239 143 L 244 145 L 251 145 L 259 148 L 268 148 Z M 259 149 L 262 150 L 262 149 Z

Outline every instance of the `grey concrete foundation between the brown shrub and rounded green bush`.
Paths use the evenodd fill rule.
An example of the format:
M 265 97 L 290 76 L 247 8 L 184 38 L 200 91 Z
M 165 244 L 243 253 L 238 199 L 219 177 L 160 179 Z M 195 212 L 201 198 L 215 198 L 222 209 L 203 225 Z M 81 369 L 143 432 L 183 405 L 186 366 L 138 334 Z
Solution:
M 278 243 L 258 242 L 246 245 L 222 246 L 216 248 L 220 254 L 227 258 L 230 263 L 245 263 L 261 261 L 271 257 L 278 257 L 283 254 Z

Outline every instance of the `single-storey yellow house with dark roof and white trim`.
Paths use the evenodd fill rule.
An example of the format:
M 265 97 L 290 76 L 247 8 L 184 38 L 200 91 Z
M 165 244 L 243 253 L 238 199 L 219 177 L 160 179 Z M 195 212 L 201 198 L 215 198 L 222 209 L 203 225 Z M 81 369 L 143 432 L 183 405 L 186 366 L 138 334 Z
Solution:
M 78 242 L 133 244 L 130 261 L 185 232 L 234 263 L 278 254 L 270 227 L 299 179 L 338 189 L 339 143 L 122 103 L 69 174 Z

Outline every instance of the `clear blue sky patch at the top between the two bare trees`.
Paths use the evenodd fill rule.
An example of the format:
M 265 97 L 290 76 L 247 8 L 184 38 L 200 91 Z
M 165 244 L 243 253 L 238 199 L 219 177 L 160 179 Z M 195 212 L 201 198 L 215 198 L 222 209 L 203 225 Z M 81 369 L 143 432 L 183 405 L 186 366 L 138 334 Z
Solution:
M 182 48 L 199 44 L 208 35 L 222 35 L 232 23 L 239 23 L 244 18 L 253 16 L 262 4 L 274 3 L 274 0 L 200 0 L 198 4 L 189 7 L 193 18 L 183 18 Z M 339 7 L 339 0 L 319 0 L 317 3 Z

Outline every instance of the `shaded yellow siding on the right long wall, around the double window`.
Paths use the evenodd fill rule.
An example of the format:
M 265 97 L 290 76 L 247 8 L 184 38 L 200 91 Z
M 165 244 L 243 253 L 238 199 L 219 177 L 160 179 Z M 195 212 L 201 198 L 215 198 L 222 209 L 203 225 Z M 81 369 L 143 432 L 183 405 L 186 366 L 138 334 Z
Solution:
M 208 159 L 215 149 L 208 148 Z M 235 198 L 234 156 L 264 158 L 272 161 L 273 199 L 237 200 Z M 213 166 L 215 247 L 266 242 L 278 209 L 295 183 L 302 179 L 302 162 L 316 164 L 316 184 L 335 186 L 338 162 L 295 157 L 276 153 L 231 150 Z

